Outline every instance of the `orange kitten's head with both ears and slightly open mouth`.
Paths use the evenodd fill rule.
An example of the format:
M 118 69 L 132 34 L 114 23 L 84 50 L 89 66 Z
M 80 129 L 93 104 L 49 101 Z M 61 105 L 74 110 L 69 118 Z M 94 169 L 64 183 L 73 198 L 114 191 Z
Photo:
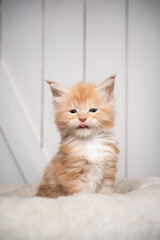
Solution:
M 48 81 L 54 96 L 55 122 L 62 136 L 86 138 L 114 125 L 114 80 L 111 76 L 98 86 L 81 82 L 70 89 Z

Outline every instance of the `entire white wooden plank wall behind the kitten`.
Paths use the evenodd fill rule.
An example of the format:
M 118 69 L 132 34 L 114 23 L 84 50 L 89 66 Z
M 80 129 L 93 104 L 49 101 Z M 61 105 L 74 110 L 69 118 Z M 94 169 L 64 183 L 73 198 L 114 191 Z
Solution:
M 118 177 L 160 176 L 160 1 L 2 0 L 0 183 L 38 180 L 56 153 L 45 79 L 117 73 Z

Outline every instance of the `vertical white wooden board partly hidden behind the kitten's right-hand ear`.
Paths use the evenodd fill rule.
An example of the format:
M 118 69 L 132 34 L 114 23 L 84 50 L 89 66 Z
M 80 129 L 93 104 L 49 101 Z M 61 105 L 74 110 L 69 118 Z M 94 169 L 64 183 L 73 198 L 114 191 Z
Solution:
M 125 1 L 87 1 L 87 81 L 116 78 L 116 137 L 120 143 L 118 176 L 125 172 Z

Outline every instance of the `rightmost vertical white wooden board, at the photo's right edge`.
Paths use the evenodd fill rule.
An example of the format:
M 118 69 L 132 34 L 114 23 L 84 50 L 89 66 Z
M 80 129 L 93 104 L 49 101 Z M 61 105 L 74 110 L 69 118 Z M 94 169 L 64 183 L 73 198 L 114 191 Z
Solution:
M 129 2 L 128 176 L 160 176 L 160 1 Z

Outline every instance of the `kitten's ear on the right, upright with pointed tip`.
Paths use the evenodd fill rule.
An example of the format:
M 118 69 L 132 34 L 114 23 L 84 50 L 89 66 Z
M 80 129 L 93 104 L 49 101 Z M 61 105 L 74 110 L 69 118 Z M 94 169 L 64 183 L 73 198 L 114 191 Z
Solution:
M 115 77 L 116 74 L 110 76 L 104 82 L 97 86 L 100 91 L 105 93 L 108 101 L 111 101 L 113 99 Z

